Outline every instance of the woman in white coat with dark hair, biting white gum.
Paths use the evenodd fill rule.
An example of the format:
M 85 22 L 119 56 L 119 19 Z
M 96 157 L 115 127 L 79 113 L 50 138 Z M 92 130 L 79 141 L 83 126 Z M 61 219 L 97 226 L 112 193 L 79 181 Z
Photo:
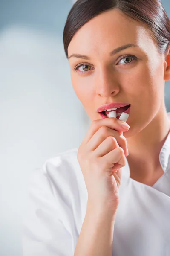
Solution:
M 92 124 L 33 174 L 24 256 L 169 256 L 170 20 L 159 0 L 78 0 L 63 42 Z

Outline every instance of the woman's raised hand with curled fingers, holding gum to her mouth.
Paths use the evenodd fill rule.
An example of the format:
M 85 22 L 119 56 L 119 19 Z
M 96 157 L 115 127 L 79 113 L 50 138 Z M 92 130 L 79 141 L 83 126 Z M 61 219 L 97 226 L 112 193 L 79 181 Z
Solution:
M 86 183 L 88 204 L 96 211 L 116 210 L 121 167 L 128 155 L 124 129 L 117 118 L 94 120 L 78 148 L 78 162 Z

